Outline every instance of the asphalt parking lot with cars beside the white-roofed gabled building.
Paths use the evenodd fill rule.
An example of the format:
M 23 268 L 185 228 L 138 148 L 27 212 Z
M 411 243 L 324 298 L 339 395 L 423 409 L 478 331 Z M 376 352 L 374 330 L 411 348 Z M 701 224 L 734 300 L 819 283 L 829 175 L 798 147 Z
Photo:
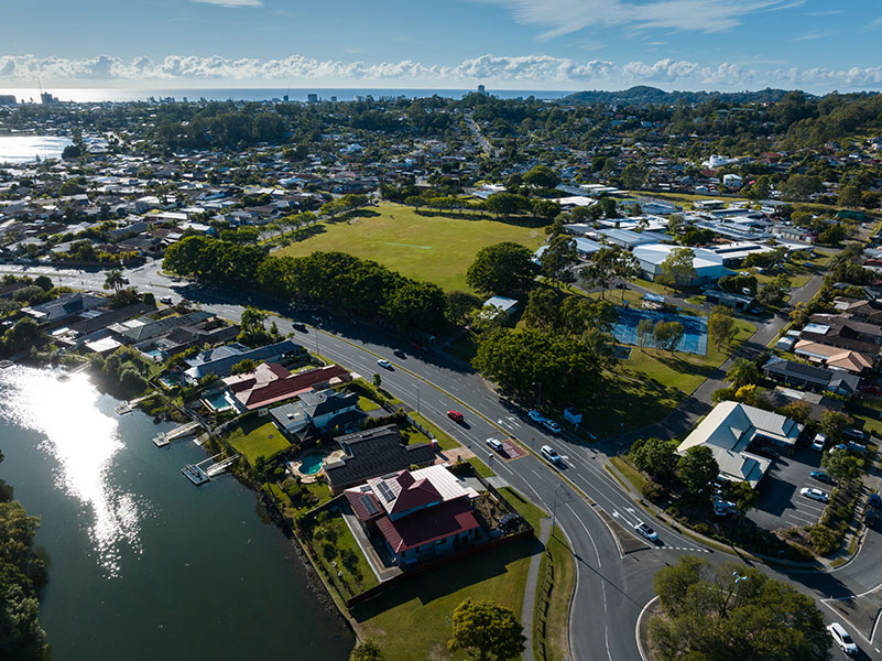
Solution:
M 793 456 L 782 454 L 760 483 L 760 505 L 748 518 L 761 528 L 804 528 L 818 522 L 825 503 L 802 496 L 803 487 L 830 492 L 832 486 L 809 476 L 820 467 L 821 454 L 808 447 L 797 447 Z

